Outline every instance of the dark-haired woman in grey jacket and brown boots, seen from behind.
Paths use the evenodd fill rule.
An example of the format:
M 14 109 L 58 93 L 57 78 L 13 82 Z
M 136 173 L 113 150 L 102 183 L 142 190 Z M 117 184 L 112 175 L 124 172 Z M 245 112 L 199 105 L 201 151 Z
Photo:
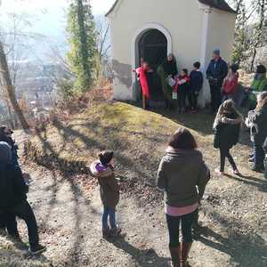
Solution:
M 189 130 L 178 129 L 171 137 L 158 167 L 158 189 L 165 192 L 166 223 L 172 266 L 188 266 L 192 223 L 210 179 L 210 172 Z M 182 246 L 179 240 L 182 224 Z

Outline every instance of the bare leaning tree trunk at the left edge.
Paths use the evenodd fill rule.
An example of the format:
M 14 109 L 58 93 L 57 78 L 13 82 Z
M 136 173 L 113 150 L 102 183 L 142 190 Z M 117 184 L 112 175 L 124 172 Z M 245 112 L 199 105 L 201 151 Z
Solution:
M 3 82 L 4 89 L 7 93 L 9 101 L 12 104 L 12 108 L 14 109 L 15 114 L 17 115 L 18 119 L 20 120 L 21 127 L 26 130 L 29 128 L 28 122 L 24 117 L 22 110 L 20 109 L 20 105 L 17 101 L 14 88 L 12 86 L 12 80 L 10 77 L 10 72 L 8 69 L 6 56 L 4 53 L 4 46 L 0 41 L 0 78 Z

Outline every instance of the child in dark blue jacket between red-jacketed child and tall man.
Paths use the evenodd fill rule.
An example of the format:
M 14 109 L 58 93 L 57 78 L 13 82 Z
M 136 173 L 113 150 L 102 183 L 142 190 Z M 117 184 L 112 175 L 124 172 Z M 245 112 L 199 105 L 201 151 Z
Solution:
M 203 86 L 203 74 L 200 71 L 200 63 L 194 63 L 194 69 L 190 73 L 190 91 L 188 93 L 188 100 L 190 102 L 190 109 L 195 112 L 198 107 L 198 96 Z

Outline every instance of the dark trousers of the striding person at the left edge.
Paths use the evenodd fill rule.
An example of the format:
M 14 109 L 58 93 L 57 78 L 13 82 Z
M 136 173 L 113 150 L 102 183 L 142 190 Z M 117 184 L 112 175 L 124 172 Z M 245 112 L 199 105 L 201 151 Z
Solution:
M 17 206 L 12 206 L 6 209 L 5 212 L 7 230 L 14 231 L 16 224 L 14 224 L 13 218 L 14 216 L 20 217 L 27 224 L 29 246 L 31 248 L 36 247 L 39 244 L 36 217 L 28 201 L 25 200 Z

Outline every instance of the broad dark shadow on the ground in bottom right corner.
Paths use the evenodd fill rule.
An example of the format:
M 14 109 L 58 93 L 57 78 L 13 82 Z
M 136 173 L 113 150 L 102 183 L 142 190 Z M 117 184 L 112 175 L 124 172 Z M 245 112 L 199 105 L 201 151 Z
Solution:
M 264 267 L 267 266 L 267 245 L 266 241 L 251 232 L 247 234 L 234 231 L 233 223 L 230 223 L 220 214 L 212 214 L 214 218 L 221 221 L 223 228 L 228 231 L 228 237 L 224 238 L 222 235 L 213 230 L 203 227 L 201 237 L 198 239 L 207 247 L 212 247 L 222 253 L 231 256 L 231 263 L 236 263 L 242 267 Z M 240 222 L 239 222 L 240 223 Z M 244 226 L 245 227 L 245 226 Z M 211 240 L 214 239 L 214 240 Z

